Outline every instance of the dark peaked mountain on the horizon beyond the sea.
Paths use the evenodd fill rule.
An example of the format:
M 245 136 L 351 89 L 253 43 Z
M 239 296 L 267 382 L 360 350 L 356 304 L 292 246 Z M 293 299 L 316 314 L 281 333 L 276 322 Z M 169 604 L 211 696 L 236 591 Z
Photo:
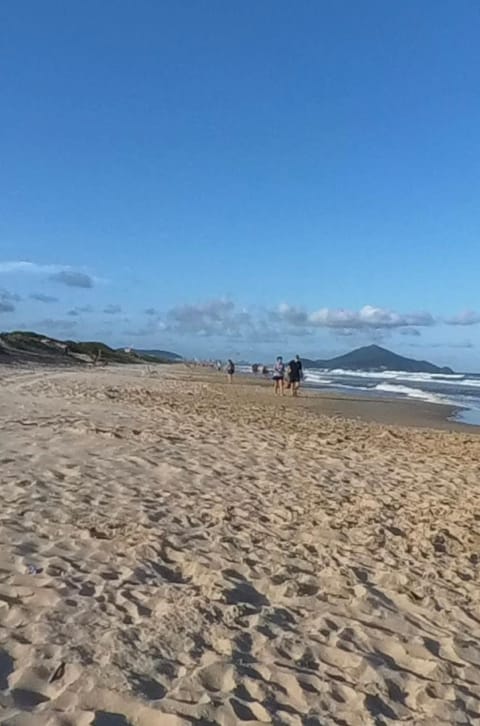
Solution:
M 343 368 L 353 371 L 406 371 L 408 373 L 453 373 L 451 368 L 440 368 L 426 360 L 405 358 L 379 345 L 367 345 L 328 360 L 304 360 L 305 368 Z

